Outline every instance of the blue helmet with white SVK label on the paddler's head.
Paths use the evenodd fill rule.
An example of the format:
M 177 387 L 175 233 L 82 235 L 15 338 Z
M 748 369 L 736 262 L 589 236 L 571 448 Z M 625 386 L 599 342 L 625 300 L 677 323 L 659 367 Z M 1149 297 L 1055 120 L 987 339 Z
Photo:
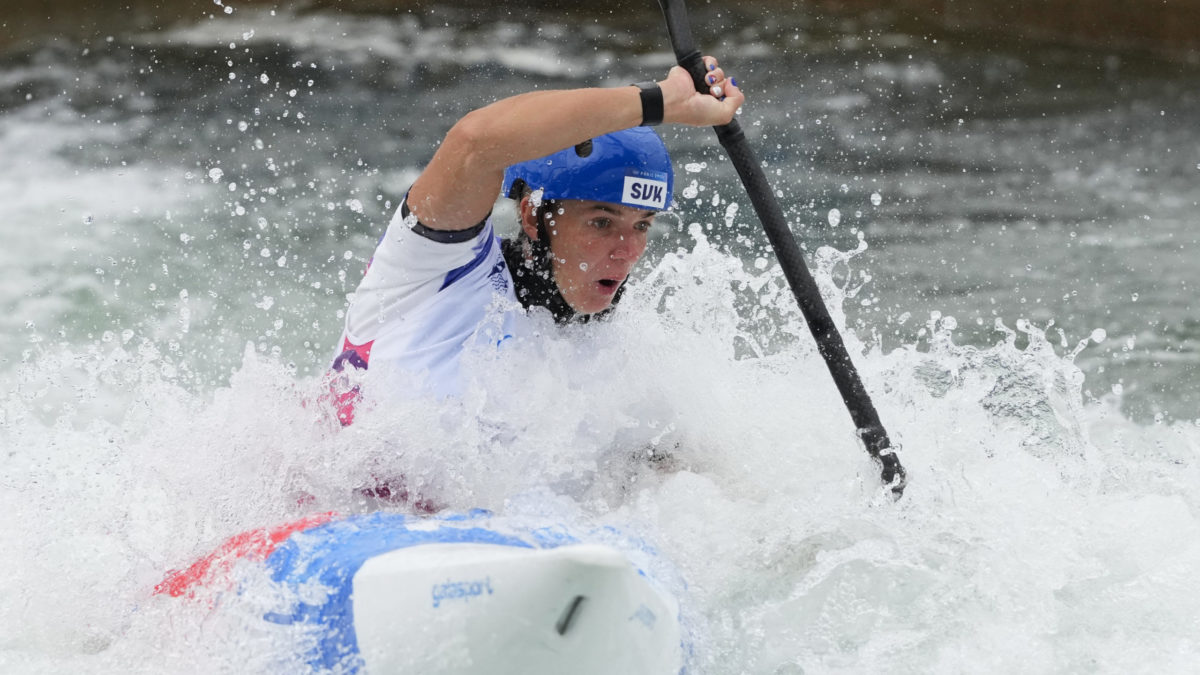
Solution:
M 664 210 L 674 172 L 659 135 L 644 126 L 614 131 L 574 148 L 510 166 L 502 195 L 520 199 L 524 187 L 542 199 L 588 199 Z

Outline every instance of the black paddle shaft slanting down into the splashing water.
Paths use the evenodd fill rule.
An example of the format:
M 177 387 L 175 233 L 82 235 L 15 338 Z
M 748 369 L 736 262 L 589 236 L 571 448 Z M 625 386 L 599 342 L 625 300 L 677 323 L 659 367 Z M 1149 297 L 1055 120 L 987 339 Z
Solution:
M 691 79 L 696 84 L 696 91 L 708 92 L 708 83 L 704 82 L 707 71 L 701 58 L 700 49 L 696 48 L 691 37 L 691 28 L 688 20 L 688 7 L 683 0 L 659 0 L 662 13 L 667 19 L 667 32 L 671 36 L 671 47 L 674 49 L 676 60 L 680 66 L 691 73 Z M 784 268 L 784 276 L 787 277 L 792 294 L 800 306 L 800 312 L 812 331 L 812 338 L 817 342 L 817 351 L 824 358 L 829 374 L 841 393 L 841 400 L 850 411 L 850 417 L 858 429 L 858 436 L 866 452 L 875 458 L 881 467 L 883 483 L 892 486 L 892 492 L 896 498 L 904 492 L 905 470 L 900 466 L 900 458 L 892 449 L 892 441 L 888 438 L 880 414 L 871 404 L 871 398 L 863 387 L 863 381 L 854 369 L 854 363 L 850 359 L 846 344 L 838 333 L 838 327 L 829 316 L 817 282 L 812 279 L 804 255 L 800 252 L 796 237 L 787 227 L 784 211 L 780 210 L 775 201 L 774 192 L 767 183 L 767 177 L 762 172 L 758 159 L 755 157 L 750 143 L 746 142 L 742 125 L 734 119 L 730 124 L 714 126 L 716 138 L 725 148 L 725 153 L 733 161 L 733 167 L 742 178 L 754 210 L 762 221 L 762 227 L 767 232 L 767 240 L 770 241 L 779 257 L 779 264 Z

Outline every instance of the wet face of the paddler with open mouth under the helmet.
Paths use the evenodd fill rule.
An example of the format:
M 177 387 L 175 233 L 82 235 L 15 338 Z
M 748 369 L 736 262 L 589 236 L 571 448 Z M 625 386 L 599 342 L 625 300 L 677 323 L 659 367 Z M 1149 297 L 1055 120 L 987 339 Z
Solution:
M 571 309 L 595 313 L 612 305 L 617 289 L 646 252 L 654 213 L 607 202 L 557 203 L 548 215 L 546 232 L 554 282 Z M 532 238 L 538 237 L 535 222 L 522 219 Z

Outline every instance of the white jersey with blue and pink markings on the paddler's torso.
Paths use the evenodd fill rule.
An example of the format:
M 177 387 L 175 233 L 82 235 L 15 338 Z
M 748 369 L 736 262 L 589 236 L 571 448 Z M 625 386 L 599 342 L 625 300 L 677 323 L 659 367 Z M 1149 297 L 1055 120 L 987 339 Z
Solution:
M 503 341 L 516 306 L 491 216 L 470 229 L 438 231 L 401 203 L 346 312 L 334 370 L 380 366 L 455 393 L 463 348 Z

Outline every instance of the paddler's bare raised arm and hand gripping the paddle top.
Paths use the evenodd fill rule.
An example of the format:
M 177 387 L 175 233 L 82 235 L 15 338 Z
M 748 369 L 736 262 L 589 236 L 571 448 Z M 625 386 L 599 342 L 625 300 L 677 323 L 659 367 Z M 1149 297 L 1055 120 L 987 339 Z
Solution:
M 745 97 L 716 59 L 704 56 L 704 64 L 709 94 L 698 94 L 679 66 L 658 83 L 664 123 L 713 126 L 733 119 Z M 641 92 L 632 85 L 532 91 L 497 101 L 450 129 L 413 184 L 408 208 L 426 227 L 467 229 L 491 211 L 505 167 L 640 124 Z

